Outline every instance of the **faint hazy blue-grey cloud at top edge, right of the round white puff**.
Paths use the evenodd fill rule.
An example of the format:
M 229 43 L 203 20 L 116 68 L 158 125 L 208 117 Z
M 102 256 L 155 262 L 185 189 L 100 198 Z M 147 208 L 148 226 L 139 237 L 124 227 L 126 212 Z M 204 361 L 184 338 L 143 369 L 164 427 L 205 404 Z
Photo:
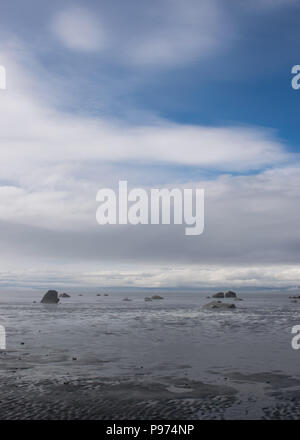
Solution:
M 129 40 L 127 60 L 137 65 L 185 64 L 210 56 L 231 39 L 229 18 L 214 0 L 167 0 L 147 15 L 145 30 Z

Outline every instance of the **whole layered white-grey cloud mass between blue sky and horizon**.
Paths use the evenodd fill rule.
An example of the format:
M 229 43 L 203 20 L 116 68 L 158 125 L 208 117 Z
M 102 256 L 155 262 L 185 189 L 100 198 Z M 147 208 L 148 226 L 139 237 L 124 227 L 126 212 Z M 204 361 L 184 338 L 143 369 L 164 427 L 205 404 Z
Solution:
M 36 96 L 33 84 L 39 90 L 39 82 L 18 60 L 7 57 L 5 65 L 10 86 L 0 100 L 1 258 L 3 268 L 11 259 L 11 276 L 17 277 L 18 267 L 24 267 L 25 254 L 26 266 L 38 267 L 41 259 L 57 273 L 57 279 L 61 277 L 61 283 L 66 277 L 68 283 L 73 279 L 82 284 L 138 287 L 299 284 L 294 265 L 300 242 L 300 167 L 297 162 L 293 167 L 282 165 L 290 156 L 272 133 L 166 121 L 133 126 L 75 116 L 54 108 L 47 96 Z M 107 164 L 111 162 L 122 162 L 114 178 L 126 178 L 129 184 L 128 162 L 136 167 L 163 163 L 166 172 L 169 163 L 224 173 L 278 163 L 281 168 L 186 183 L 204 187 L 207 203 L 205 234 L 201 241 L 187 241 L 174 228 L 149 227 L 146 234 L 141 229 L 126 233 L 119 228 L 109 233 L 99 229 L 95 195 L 100 185 L 108 183 Z M 95 165 L 99 165 L 99 176 L 85 172 L 78 177 L 83 167 L 89 171 Z M 153 183 L 155 178 L 153 173 Z M 117 271 L 111 266 L 101 271 L 95 264 L 97 260 L 101 265 L 103 261 L 115 265 L 117 259 L 135 265 L 139 261 L 144 267 Z M 81 261 L 76 269 L 75 260 Z M 174 270 L 153 268 L 153 261 L 172 263 Z M 282 262 L 284 266 L 278 266 Z M 34 277 L 38 283 L 46 273 L 40 269 L 31 282 Z

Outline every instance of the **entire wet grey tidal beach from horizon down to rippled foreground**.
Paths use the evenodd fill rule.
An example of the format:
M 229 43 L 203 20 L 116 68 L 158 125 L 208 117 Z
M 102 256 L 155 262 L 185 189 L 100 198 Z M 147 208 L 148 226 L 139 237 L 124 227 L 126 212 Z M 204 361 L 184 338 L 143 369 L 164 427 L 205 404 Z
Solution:
M 213 311 L 204 293 L 160 295 L 75 293 L 58 305 L 2 295 L 0 418 L 300 417 L 291 347 L 300 303 L 286 292 L 241 293 L 234 310 Z

